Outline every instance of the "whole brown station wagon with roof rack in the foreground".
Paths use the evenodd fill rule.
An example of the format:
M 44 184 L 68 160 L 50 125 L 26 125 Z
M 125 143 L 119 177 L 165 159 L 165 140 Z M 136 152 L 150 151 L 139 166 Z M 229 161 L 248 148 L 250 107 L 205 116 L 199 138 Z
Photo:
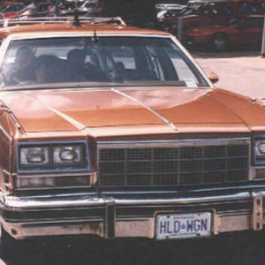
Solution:
M 61 19 L 0 30 L 2 251 L 261 231 L 262 104 L 214 87 L 171 34 Z

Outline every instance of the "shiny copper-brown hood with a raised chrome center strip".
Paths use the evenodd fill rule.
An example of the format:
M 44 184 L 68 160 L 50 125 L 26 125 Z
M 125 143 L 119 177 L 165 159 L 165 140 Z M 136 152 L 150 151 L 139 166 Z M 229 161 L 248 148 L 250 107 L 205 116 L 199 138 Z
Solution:
M 184 128 L 199 132 L 249 131 L 265 125 L 265 112 L 248 98 L 222 89 L 179 87 L 105 88 L 5 92 L 1 100 L 27 133 L 133 128 Z M 131 128 L 131 129 L 130 129 Z M 165 129 L 166 128 L 166 129 Z M 224 129 L 225 128 L 225 129 Z M 186 129 L 188 130 L 188 129 Z

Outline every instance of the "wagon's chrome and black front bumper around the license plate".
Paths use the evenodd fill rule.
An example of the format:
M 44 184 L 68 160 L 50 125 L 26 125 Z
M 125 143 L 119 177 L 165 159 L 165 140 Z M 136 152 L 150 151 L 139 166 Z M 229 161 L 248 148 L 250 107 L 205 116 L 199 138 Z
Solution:
M 210 212 L 211 234 L 259 231 L 264 224 L 265 186 L 208 192 L 95 193 L 0 197 L 1 222 L 15 239 L 91 234 L 104 239 L 155 239 L 159 213 Z

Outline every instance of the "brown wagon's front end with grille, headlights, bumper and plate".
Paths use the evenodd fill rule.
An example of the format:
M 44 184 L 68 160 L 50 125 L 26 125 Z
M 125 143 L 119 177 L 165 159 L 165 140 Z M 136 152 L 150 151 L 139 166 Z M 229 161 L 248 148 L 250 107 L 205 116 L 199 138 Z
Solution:
M 1 196 L 15 239 L 186 239 L 262 230 L 261 135 L 21 142 Z

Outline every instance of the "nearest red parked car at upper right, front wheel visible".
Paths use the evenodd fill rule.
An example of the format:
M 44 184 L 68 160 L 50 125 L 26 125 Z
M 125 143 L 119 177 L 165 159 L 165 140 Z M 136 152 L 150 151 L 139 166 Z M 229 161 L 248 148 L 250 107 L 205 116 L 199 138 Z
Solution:
M 188 45 L 203 44 L 219 51 L 231 46 L 261 45 L 263 25 L 264 16 L 230 19 L 223 25 L 188 29 L 184 40 Z

